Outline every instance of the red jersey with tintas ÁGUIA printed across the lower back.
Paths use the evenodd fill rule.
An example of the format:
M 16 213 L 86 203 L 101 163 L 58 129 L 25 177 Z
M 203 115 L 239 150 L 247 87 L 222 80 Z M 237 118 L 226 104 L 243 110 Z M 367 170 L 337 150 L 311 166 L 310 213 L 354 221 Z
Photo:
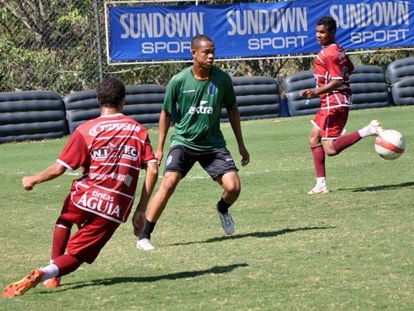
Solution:
M 69 193 L 76 207 L 120 223 L 130 214 L 142 163 L 156 160 L 147 130 L 111 114 L 78 126 L 57 162 L 69 170 L 82 167 Z

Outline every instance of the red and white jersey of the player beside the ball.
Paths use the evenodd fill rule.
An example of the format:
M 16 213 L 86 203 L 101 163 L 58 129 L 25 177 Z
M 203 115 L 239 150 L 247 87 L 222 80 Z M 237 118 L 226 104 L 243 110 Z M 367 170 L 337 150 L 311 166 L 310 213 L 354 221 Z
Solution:
M 332 43 L 322 47 L 314 62 L 316 87 L 323 87 L 332 80 L 342 80 L 342 86 L 330 93 L 320 94 L 321 109 L 352 105 L 349 75 L 353 71 L 354 65 L 342 46 Z

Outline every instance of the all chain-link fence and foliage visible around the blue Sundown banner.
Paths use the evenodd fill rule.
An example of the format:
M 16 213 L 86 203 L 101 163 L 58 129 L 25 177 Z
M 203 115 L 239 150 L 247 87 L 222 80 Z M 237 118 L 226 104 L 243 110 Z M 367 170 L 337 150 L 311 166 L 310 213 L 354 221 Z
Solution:
M 237 1 L 240 2 L 199 4 Z M 155 5 L 155 1 L 133 3 L 140 4 Z M 118 77 L 125 84 L 167 84 L 172 75 L 188 65 L 107 65 L 104 25 L 101 0 L 0 0 L 0 92 L 43 89 L 65 96 L 91 89 L 107 76 Z M 412 50 L 383 50 L 352 55 L 352 60 L 356 65 L 379 65 L 385 69 L 392 60 L 411 55 Z M 233 76 L 267 75 L 280 81 L 286 75 L 310 69 L 312 62 L 313 58 L 300 57 L 217 64 Z

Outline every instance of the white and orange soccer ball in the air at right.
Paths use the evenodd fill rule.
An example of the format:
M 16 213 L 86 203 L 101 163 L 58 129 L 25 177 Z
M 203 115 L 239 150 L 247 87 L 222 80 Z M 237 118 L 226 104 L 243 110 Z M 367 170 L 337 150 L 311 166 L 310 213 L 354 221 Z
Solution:
M 405 139 L 396 130 L 385 130 L 375 139 L 375 151 L 381 158 L 396 160 L 405 151 Z

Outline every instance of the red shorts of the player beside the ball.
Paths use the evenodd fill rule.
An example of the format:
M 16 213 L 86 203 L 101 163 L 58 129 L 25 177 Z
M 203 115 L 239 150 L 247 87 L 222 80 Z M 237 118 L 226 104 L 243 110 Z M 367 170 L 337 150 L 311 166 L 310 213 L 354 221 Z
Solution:
M 322 139 L 335 139 L 342 135 L 348 120 L 349 107 L 319 109 L 311 122 L 320 129 Z

